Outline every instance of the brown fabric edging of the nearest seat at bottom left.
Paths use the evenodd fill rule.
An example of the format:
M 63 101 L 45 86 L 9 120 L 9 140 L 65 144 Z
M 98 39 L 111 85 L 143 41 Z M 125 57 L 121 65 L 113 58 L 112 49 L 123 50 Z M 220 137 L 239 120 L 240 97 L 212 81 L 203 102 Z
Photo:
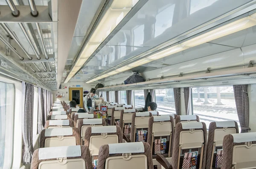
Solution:
M 32 156 L 32 162 L 31 162 L 31 168 L 30 169 L 38 169 L 38 166 L 42 161 L 56 160 L 56 158 L 39 160 L 39 158 L 38 158 L 39 154 L 38 153 L 39 153 L 39 149 L 36 149 L 33 153 L 33 156 Z M 81 156 L 79 156 L 79 157 L 67 157 L 67 159 L 72 159 L 72 158 L 82 158 L 82 159 L 84 159 L 87 169 L 91 169 L 93 167 L 91 157 L 90 157 L 90 150 L 87 146 L 81 146 Z

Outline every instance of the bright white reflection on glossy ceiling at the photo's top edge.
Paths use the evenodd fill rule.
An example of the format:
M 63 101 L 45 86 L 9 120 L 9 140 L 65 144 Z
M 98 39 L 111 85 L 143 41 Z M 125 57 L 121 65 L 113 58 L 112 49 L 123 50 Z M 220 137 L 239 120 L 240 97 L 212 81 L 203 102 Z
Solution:
M 193 14 L 196 11 L 199 11 L 207 6 L 211 6 L 218 0 L 191 0 L 190 3 L 190 14 Z

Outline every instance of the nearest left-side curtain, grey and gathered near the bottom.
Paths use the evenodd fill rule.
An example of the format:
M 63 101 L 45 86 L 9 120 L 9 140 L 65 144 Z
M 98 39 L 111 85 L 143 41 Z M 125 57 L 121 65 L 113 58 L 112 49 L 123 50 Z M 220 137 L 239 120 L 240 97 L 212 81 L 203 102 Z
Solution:
M 25 93 L 24 109 L 22 113 L 22 137 L 23 137 L 23 163 L 29 164 L 32 160 L 33 149 L 33 106 L 34 106 L 34 86 L 22 82 L 22 92 Z

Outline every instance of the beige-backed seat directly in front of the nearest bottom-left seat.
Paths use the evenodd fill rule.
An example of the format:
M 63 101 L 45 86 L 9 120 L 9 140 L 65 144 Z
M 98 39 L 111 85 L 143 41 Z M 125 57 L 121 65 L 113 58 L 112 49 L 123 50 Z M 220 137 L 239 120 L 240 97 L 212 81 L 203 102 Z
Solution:
M 40 148 L 80 145 L 80 133 L 76 127 L 44 129 L 40 134 Z

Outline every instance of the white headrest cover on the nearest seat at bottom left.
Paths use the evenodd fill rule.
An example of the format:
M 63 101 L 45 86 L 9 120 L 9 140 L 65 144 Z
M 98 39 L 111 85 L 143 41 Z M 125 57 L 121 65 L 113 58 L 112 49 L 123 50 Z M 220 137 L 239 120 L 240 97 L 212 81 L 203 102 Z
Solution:
M 80 157 L 81 146 L 58 146 L 40 148 L 38 152 L 39 160 L 63 157 Z

